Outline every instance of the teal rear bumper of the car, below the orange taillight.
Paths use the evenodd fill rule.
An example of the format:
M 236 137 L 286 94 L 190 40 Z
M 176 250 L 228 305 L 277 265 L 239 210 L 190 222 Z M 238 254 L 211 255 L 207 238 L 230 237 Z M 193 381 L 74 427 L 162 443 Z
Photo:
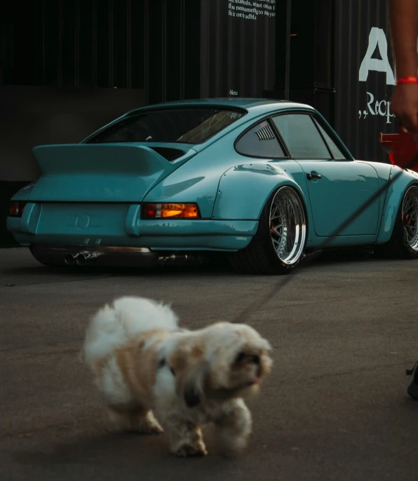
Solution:
M 66 215 L 65 209 L 60 215 L 43 216 L 39 205 L 29 203 L 22 218 L 7 218 L 7 229 L 20 245 L 50 248 L 236 251 L 250 243 L 257 227 L 256 220 L 143 220 L 137 217 L 137 206 L 126 206 L 123 216 L 112 210 L 102 216 Z

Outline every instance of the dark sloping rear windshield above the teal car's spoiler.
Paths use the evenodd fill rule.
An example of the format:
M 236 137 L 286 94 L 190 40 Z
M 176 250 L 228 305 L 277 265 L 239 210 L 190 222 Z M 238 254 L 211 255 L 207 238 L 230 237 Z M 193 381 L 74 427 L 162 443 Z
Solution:
M 90 137 L 87 144 L 105 142 L 182 142 L 200 144 L 241 118 L 243 111 L 171 109 L 135 114 Z

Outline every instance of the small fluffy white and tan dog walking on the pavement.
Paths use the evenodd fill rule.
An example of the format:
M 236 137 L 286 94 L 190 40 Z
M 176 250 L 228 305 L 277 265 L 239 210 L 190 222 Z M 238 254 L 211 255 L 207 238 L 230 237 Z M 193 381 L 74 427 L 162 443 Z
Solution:
M 196 456 L 207 454 L 200 426 L 208 422 L 225 454 L 245 447 L 251 414 L 243 397 L 269 372 L 269 350 L 248 325 L 180 330 L 169 306 L 122 297 L 91 320 L 83 356 L 107 404 L 110 431 L 164 428 L 174 454 Z

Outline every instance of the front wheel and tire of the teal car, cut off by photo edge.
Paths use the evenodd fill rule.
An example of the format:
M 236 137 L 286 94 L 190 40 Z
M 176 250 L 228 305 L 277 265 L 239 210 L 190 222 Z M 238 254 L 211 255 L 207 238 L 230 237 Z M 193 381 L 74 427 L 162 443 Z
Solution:
M 394 259 L 418 258 L 418 186 L 413 185 L 405 192 L 390 241 L 377 246 L 375 251 Z

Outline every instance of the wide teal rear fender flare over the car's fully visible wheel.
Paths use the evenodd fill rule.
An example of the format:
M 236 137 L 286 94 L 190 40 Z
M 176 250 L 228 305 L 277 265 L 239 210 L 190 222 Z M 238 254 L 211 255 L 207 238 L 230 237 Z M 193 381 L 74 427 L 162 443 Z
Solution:
M 258 220 L 271 194 L 284 185 L 297 191 L 304 203 L 305 214 L 310 217 L 304 172 L 293 161 L 281 162 L 280 166 L 275 163 L 247 163 L 224 172 L 212 217 Z M 309 217 L 308 223 L 311 220 Z

